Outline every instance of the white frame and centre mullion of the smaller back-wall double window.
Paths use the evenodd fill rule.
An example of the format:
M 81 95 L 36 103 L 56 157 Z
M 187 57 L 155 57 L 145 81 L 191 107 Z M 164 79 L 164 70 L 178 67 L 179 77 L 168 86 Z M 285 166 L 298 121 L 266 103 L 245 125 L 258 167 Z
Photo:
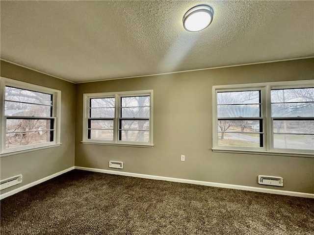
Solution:
M 120 141 L 119 140 L 119 119 L 120 119 L 120 98 L 127 96 L 150 96 L 150 118 L 149 118 L 149 142 Z M 89 118 L 89 100 L 91 98 L 110 98 L 114 97 L 114 118 L 113 118 L 113 141 L 88 139 L 88 118 Z M 82 143 L 84 144 L 102 144 L 118 145 L 131 147 L 153 147 L 153 90 L 129 91 L 129 92 L 108 92 L 108 93 L 88 93 L 83 94 L 83 128 Z M 123 118 L 122 118 L 123 119 Z

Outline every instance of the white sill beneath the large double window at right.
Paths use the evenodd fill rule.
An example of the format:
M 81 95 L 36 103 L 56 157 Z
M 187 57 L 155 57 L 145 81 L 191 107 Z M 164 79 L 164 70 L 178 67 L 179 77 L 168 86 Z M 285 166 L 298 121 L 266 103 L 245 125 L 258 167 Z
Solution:
M 285 153 L 285 152 L 269 152 L 269 151 L 266 152 L 266 151 L 234 150 L 234 149 L 219 149 L 219 148 L 212 148 L 211 151 L 217 152 L 217 153 L 258 154 L 258 155 L 314 158 L 314 154 L 310 154 L 310 153 L 307 154 L 307 153 Z

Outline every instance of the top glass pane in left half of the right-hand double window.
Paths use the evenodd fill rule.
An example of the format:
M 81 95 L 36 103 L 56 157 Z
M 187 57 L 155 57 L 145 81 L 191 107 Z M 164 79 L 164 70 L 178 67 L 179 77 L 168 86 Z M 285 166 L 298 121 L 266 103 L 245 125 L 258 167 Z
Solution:
M 258 104 L 260 91 L 218 92 L 217 104 Z

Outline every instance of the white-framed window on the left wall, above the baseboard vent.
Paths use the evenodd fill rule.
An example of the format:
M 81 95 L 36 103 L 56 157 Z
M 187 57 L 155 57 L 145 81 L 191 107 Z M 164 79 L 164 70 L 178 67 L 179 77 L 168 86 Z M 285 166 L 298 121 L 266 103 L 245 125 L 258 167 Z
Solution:
M 1 78 L 1 154 L 59 144 L 60 95 Z

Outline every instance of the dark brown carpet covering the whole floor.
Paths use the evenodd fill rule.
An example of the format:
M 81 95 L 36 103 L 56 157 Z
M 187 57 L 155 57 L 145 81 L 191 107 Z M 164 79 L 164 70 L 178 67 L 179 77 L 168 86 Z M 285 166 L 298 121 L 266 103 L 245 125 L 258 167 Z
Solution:
M 73 170 L 1 200 L 1 235 L 314 235 L 314 200 Z

